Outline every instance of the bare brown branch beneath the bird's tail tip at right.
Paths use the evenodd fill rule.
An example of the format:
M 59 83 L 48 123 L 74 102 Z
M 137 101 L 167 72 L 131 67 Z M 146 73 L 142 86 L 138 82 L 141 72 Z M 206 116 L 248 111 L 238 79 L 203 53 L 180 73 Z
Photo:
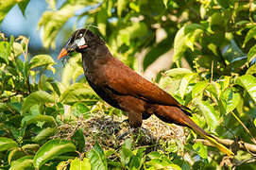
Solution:
M 230 140 L 230 139 L 217 139 L 217 140 L 220 144 L 226 145 L 227 147 L 229 147 L 235 143 L 235 141 Z M 196 139 L 196 140 L 194 140 L 194 142 L 196 142 L 196 143 L 201 142 L 202 144 L 205 144 L 205 145 L 214 146 L 214 144 L 212 144 L 209 141 L 204 140 L 204 139 Z M 248 144 L 243 141 L 239 141 L 239 142 L 237 142 L 237 144 L 239 144 L 239 149 L 243 149 L 248 152 L 256 154 L 256 144 Z

